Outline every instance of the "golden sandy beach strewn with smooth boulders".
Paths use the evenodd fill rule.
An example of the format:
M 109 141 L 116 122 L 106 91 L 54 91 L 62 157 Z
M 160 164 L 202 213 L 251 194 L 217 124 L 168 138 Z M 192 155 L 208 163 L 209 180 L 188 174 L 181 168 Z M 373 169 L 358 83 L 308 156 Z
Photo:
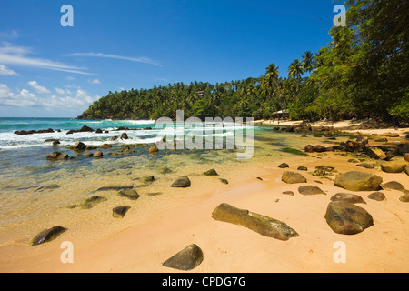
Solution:
M 294 123 L 296 124 L 296 123 Z M 294 125 L 280 122 L 280 125 Z M 334 126 L 345 127 L 339 123 Z M 404 135 L 409 129 L 399 129 Z M 355 133 L 358 130 L 352 130 Z M 385 131 L 371 129 L 365 134 L 381 135 Z M 390 138 L 390 142 L 404 141 Z M 304 140 L 305 146 L 309 143 Z M 370 141 L 372 146 L 374 141 Z M 109 236 L 83 239 L 63 234 L 41 246 L 0 247 L 0 272 L 183 272 L 162 266 L 186 246 L 196 244 L 204 253 L 203 262 L 190 272 L 195 273 L 275 273 L 275 272 L 402 272 L 409 271 L 409 210 L 399 200 L 404 193 L 382 190 L 384 201 L 367 196 L 374 191 L 351 192 L 334 186 L 334 176 L 313 176 L 315 166 L 334 166 L 338 173 L 357 170 L 396 181 L 409 189 L 405 173 L 385 173 L 379 163 L 373 169 L 348 162 L 352 154 L 325 152 L 309 156 L 289 156 L 289 168 L 277 163 L 260 163 L 249 170 L 241 169 L 229 177 L 229 184 L 206 187 L 215 177 L 192 177 L 192 188 L 177 189 L 180 193 L 195 192 L 177 202 L 152 208 L 143 219 Z M 404 161 L 403 157 L 395 157 Z M 308 171 L 297 170 L 306 166 Z M 216 168 L 217 170 L 217 168 Z M 304 196 L 298 192 L 300 184 L 286 184 L 281 180 L 284 171 L 294 171 L 307 179 L 307 185 L 319 186 L 326 195 Z M 222 173 L 223 174 L 223 173 Z M 258 179 L 260 177 L 261 179 Z M 196 186 L 195 186 L 196 184 Z M 283 194 L 293 191 L 294 196 Z M 356 235 L 340 235 L 327 225 L 324 214 L 330 198 L 337 193 L 362 196 L 366 204 L 359 204 L 374 217 L 374 225 Z M 227 203 L 241 209 L 284 221 L 299 234 L 281 241 L 245 228 L 212 218 L 214 208 Z M 126 219 L 127 216 L 124 217 Z M 69 240 L 74 246 L 74 263 L 62 263 L 61 243 Z M 343 242 L 345 263 L 337 263 L 334 244 Z

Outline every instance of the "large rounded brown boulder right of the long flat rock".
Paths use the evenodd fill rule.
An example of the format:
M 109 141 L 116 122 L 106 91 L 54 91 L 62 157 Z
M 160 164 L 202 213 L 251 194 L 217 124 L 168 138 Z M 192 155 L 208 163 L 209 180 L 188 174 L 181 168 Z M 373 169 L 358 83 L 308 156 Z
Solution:
M 345 201 L 330 202 L 325 213 L 328 226 L 342 235 L 354 235 L 374 225 L 373 217 L 362 207 Z

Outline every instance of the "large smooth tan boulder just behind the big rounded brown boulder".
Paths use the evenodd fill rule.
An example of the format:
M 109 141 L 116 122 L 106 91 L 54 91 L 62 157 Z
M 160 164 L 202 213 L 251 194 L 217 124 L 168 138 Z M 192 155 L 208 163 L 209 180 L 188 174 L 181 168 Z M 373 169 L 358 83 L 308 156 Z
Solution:
M 351 171 L 335 177 L 334 186 L 349 191 L 377 191 L 381 188 L 381 176 L 364 172 Z

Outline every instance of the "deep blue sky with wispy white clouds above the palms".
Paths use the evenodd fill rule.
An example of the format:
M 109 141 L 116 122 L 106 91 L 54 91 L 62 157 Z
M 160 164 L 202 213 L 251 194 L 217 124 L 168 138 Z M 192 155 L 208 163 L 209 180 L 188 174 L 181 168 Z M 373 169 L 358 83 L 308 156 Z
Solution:
M 271 63 L 285 77 L 294 59 L 331 41 L 337 4 L 2 1 L 0 117 L 76 117 L 109 91 L 241 80 Z

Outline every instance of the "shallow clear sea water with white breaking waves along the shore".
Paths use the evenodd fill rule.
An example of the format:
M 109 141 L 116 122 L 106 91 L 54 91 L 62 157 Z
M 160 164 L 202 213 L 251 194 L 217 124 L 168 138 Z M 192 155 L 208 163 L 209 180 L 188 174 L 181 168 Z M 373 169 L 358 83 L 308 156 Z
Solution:
M 103 133 L 75 132 L 83 126 L 101 129 Z M 124 130 L 117 130 L 123 126 Z M 245 125 L 243 125 L 245 126 Z M 152 129 L 146 129 L 151 127 Z M 53 132 L 16 135 L 16 131 L 46 130 Z M 234 129 L 233 131 L 231 129 Z M 229 136 L 242 126 L 225 125 L 222 132 L 205 133 L 190 128 L 197 136 Z M 58 130 L 58 131 L 57 131 Z M 239 173 L 252 173 L 260 166 L 272 166 L 285 156 L 284 148 L 301 147 L 298 135 L 274 133 L 269 126 L 254 126 L 254 155 L 238 159 L 240 149 L 165 149 L 155 155 L 149 146 L 176 133 L 176 127 L 155 129 L 153 120 L 75 120 L 74 118 L 0 118 L 0 247 L 29 246 L 40 231 L 52 226 L 64 226 L 70 231 L 66 238 L 75 240 L 97 236 L 110 236 L 118 229 L 135 224 L 153 209 L 169 203 L 180 203 L 186 195 L 200 196 L 228 186 Z M 126 133 L 128 139 L 117 138 Z M 245 135 L 244 135 L 245 136 Z M 47 139 L 57 139 L 53 146 Z M 76 142 L 94 146 L 90 152 L 101 150 L 103 158 L 88 157 L 85 151 L 74 151 Z M 101 149 L 99 146 L 111 147 Z M 304 145 L 303 145 L 304 146 Z M 96 148 L 95 148 L 96 147 Z M 67 154 L 65 160 L 47 160 L 53 152 Z M 278 165 L 278 164 L 277 164 Z M 219 176 L 204 177 L 209 169 Z M 145 176 L 154 176 L 146 182 Z M 171 185 L 178 176 L 189 176 L 191 189 L 175 189 Z M 255 177 L 254 177 L 255 178 Z M 220 179 L 225 179 L 222 183 Z M 118 196 L 115 187 L 133 186 L 140 195 L 136 201 Z M 85 199 L 102 196 L 100 205 L 82 209 Z M 112 208 L 132 206 L 125 218 L 113 221 Z

